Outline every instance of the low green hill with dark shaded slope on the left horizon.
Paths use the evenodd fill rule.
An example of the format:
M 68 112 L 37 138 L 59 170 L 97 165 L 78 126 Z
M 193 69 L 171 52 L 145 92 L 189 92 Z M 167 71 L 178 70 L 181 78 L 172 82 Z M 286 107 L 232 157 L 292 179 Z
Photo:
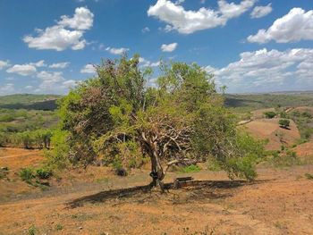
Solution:
M 17 94 L 0 97 L 0 108 L 55 110 L 58 95 Z

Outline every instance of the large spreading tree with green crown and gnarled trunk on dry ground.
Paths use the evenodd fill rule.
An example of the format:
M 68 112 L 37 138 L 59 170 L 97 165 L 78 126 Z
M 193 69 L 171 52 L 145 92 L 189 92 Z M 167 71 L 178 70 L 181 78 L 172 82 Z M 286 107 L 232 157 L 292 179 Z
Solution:
M 103 158 L 127 165 L 148 156 L 151 186 L 163 188 L 170 165 L 215 157 L 230 177 L 252 180 L 263 146 L 236 130 L 213 77 L 195 63 L 162 63 L 157 87 L 148 87 L 152 71 L 140 71 L 139 58 L 106 60 L 96 78 L 63 97 L 61 130 L 72 164 Z

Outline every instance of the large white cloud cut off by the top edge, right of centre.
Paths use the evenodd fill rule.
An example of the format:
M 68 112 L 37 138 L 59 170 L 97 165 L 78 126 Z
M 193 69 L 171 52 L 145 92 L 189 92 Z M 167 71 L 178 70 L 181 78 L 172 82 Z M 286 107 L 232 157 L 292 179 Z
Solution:
M 157 4 L 148 8 L 148 16 L 165 21 L 168 24 L 167 31 L 176 29 L 182 34 L 190 34 L 198 30 L 224 26 L 229 19 L 247 12 L 255 2 L 256 0 L 242 0 L 240 4 L 228 4 L 224 0 L 219 0 L 219 8 L 216 11 L 205 7 L 198 11 L 187 11 L 180 4 L 158 0 Z

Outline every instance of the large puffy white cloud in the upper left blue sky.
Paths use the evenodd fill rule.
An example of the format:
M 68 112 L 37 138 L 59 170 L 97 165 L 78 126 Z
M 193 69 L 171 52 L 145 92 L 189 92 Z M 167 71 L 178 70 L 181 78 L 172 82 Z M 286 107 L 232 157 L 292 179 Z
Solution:
M 67 48 L 72 50 L 83 49 L 87 41 L 83 38 L 85 30 L 90 29 L 93 25 L 94 14 L 86 7 L 75 9 L 73 17 L 67 15 L 61 16 L 55 26 L 46 29 L 36 29 L 38 36 L 25 36 L 23 41 L 30 48 L 39 50 L 52 49 L 63 51 Z

